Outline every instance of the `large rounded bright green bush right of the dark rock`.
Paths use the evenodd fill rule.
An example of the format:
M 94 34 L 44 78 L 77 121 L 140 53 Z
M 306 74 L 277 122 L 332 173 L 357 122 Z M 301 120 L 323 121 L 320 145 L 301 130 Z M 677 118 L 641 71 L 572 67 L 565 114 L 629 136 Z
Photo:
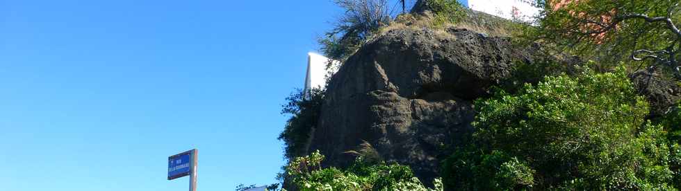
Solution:
M 477 100 L 473 141 L 443 163 L 461 190 L 673 190 L 665 131 L 625 69 L 549 76 Z

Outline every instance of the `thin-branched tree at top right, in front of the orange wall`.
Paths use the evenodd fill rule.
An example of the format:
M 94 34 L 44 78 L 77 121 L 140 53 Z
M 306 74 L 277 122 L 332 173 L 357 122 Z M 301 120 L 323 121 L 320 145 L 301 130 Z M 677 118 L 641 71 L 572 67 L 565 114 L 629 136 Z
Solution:
M 597 60 L 604 71 L 621 61 L 637 61 L 632 68 L 664 66 L 680 77 L 678 0 L 538 2 L 543 8 L 539 26 L 528 37 Z

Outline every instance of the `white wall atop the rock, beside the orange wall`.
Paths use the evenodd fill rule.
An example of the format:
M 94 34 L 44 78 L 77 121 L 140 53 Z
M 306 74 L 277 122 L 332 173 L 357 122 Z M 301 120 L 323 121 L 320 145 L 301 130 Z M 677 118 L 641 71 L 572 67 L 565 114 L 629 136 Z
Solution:
M 504 19 L 532 21 L 539 14 L 539 8 L 532 6 L 533 0 L 468 0 L 468 8 Z

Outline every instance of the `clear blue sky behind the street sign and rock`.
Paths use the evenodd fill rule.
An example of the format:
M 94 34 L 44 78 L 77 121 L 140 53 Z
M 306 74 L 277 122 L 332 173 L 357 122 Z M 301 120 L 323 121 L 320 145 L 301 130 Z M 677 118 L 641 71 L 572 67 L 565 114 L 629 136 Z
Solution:
M 284 98 L 341 10 L 311 1 L 0 0 L 0 190 L 274 183 Z

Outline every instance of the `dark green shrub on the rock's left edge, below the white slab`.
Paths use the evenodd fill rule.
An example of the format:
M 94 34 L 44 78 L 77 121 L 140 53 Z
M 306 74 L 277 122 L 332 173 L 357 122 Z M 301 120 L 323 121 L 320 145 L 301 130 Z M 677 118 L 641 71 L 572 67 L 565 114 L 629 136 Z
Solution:
M 312 89 L 306 94 L 303 91 L 292 93 L 286 100 L 287 104 L 281 109 L 282 114 L 290 114 L 284 131 L 279 134 L 279 140 L 286 145 L 286 158 L 302 156 L 313 128 L 317 126 L 324 101 L 323 89 Z

